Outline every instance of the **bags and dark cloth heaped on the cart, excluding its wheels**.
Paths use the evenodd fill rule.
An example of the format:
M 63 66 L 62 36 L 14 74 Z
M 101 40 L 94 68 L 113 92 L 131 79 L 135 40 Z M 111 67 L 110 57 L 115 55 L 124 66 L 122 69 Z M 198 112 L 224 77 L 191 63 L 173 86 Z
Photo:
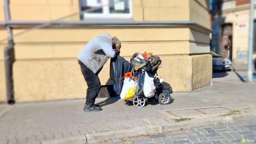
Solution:
M 117 55 L 110 61 L 110 78 L 114 81 L 116 95 L 130 99 L 134 95 L 155 95 L 154 76 L 161 67 L 159 57 L 153 53 L 134 53 L 130 62 Z M 161 79 L 163 81 L 163 79 Z

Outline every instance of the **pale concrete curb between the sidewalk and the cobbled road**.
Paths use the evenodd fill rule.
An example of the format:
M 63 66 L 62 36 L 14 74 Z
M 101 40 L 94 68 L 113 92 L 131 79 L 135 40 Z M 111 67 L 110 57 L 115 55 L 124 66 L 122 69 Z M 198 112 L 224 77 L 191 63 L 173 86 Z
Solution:
M 139 136 L 142 134 L 165 133 L 165 132 L 171 132 L 171 131 L 181 130 L 181 129 L 209 126 L 212 124 L 221 124 L 225 122 L 251 120 L 252 118 L 256 118 L 256 111 L 250 111 L 248 113 L 242 113 L 238 115 L 198 118 L 190 121 L 182 121 L 182 122 L 176 122 L 176 123 L 165 123 L 165 124 L 157 124 L 154 126 L 144 126 L 144 127 L 137 127 L 137 128 L 110 130 L 107 132 L 90 133 L 86 135 L 76 135 L 76 136 L 64 137 L 61 139 L 45 140 L 45 141 L 41 141 L 41 143 L 42 144 L 97 143 L 105 140 L 117 140 L 117 139 L 121 139 L 122 137 Z

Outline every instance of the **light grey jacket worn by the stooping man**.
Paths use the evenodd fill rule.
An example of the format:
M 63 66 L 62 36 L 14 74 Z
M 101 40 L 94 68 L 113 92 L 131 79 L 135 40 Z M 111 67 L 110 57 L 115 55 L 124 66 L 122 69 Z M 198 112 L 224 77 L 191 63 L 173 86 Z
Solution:
M 109 58 L 114 58 L 117 54 L 118 51 L 113 49 L 113 40 L 110 35 L 99 34 L 86 44 L 79 53 L 78 59 L 93 73 L 97 73 Z

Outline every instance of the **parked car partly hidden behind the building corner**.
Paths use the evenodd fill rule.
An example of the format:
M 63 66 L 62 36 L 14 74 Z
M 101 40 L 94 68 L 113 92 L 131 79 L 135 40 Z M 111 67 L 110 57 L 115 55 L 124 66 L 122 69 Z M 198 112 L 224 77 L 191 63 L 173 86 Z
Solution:
M 222 57 L 213 50 L 210 50 L 210 54 L 213 55 L 213 71 L 232 70 L 232 62 L 229 59 Z

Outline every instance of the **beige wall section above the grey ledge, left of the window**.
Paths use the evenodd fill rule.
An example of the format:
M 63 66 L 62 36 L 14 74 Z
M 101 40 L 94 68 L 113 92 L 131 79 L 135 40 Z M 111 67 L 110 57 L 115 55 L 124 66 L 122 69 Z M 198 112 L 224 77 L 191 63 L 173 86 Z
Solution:
M 10 0 L 13 21 L 53 21 L 78 12 L 78 0 Z

